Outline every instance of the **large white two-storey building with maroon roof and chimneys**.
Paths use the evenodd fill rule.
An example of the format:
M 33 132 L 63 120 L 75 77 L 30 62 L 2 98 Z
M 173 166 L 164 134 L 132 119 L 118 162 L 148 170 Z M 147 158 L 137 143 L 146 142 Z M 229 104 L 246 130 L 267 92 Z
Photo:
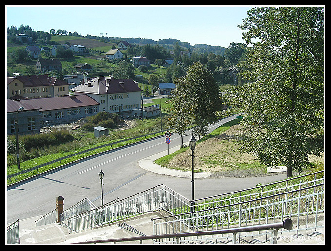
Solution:
M 71 90 L 95 99 L 100 103 L 100 112 L 117 113 L 141 107 L 141 89 L 132 79 L 99 76 Z

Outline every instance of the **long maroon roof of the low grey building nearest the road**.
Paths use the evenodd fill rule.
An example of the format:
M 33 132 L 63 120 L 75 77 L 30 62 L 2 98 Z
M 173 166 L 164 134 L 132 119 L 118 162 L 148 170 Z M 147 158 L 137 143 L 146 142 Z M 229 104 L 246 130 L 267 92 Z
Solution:
M 22 105 L 33 105 L 39 106 L 40 111 L 50 111 L 66 108 L 76 108 L 84 106 L 99 105 L 99 103 L 92 97 L 82 95 L 67 95 L 61 97 L 45 97 L 45 98 L 34 98 L 34 99 L 23 99 L 20 100 Z

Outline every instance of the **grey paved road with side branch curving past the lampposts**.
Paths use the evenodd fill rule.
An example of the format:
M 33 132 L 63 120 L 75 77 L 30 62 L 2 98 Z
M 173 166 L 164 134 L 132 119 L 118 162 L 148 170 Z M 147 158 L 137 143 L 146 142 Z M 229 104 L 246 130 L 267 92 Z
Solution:
M 214 124 L 214 130 L 234 117 L 225 118 Z M 184 137 L 184 142 L 190 137 Z M 170 148 L 180 145 L 178 134 L 171 135 Z M 101 183 L 98 173 L 105 173 L 103 180 L 104 203 L 117 197 L 123 199 L 153 186 L 164 184 L 186 198 L 191 197 L 189 178 L 170 177 L 148 172 L 139 167 L 143 158 L 168 149 L 165 137 L 138 143 L 130 147 L 78 162 L 65 169 L 40 175 L 26 183 L 7 189 L 7 223 L 17 219 L 42 216 L 55 209 L 55 198 L 64 198 L 64 208 L 88 198 L 96 206 L 101 205 Z M 268 183 L 286 178 L 286 175 L 268 178 L 216 178 L 196 179 L 195 198 L 237 191 L 254 187 L 258 183 Z

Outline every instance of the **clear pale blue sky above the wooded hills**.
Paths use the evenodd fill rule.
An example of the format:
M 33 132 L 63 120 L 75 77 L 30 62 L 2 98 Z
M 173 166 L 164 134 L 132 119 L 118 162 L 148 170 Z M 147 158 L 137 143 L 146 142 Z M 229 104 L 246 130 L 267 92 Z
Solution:
M 6 27 L 51 28 L 108 37 L 179 39 L 227 48 L 245 43 L 237 25 L 250 6 L 6 6 Z

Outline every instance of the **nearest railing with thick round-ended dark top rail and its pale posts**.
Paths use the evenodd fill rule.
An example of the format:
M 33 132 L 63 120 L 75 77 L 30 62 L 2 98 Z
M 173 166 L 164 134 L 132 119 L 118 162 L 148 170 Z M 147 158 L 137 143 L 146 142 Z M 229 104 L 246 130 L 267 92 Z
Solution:
M 109 242 L 129 242 L 129 241 L 139 241 L 142 243 L 143 240 L 157 240 L 157 239 L 175 239 L 175 243 L 197 243 L 203 242 L 202 239 L 197 240 L 195 242 L 187 241 L 185 238 L 188 237 L 202 237 L 202 236 L 214 236 L 215 242 L 217 243 L 217 236 L 223 234 L 232 234 L 232 243 L 236 243 L 236 235 L 240 232 L 254 232 L 254 231 L 263 231 L 263 230 L 271 230 L 271 238 L 270 242 L 272 244 L 277 243 L 277 235 L 279 229 L 291 230 L 293 226 L 291 219 L 285 219 L 283 222 L 279 223 L 270 223 L 258 226 L 250 226 L 250 227 L 240 227 L 240 228 L 231 228 L 231 229 L 222 229 L 215 231 L 203 231 L 203 232 L 190 232 L 190 233 L 175 233 L 175 234 L 163 234 L 163 235 L 149 235 L 149 236 L 137 236 L 137 237 L 129 237 L 129 238 L 118 238 L 118 239 L 107 239 L 107 240 L 94 240 L 94 241 L 85 241 L 78 242 L 75 244 L 92 244 L 92 243 L 109 243 Z M 183 240 L 184 239 L 184 240 Z

